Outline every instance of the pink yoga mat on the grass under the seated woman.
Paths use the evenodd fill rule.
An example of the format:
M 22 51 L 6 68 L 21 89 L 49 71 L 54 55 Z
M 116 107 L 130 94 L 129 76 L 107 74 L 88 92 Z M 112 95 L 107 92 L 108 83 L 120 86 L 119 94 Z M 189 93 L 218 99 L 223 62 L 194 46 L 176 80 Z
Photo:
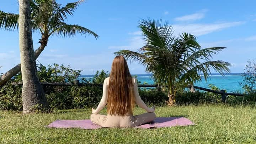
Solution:
M 157 117 L 153 122 L 143 124 L 133 128 L 162 128 L 174 126 L 194 125 L 192 121 L 184 117 Z M 91 122 L 90 119 L 85 120 L 56 120 L 50 123 L 48 128 L 81 128 L 81 129 L 97 129 L 102 128 Z

